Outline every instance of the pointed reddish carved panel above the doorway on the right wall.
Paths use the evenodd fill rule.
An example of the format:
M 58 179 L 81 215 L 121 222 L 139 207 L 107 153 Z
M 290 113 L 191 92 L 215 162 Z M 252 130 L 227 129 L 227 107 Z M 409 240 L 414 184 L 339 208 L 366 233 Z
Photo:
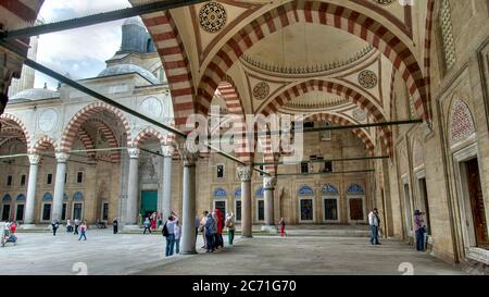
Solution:
M 466 139 L 475 133 L 474 120 L 467 104 L 462 100 L 453 102 L 450 112 L 450 133 L 452 143 Z

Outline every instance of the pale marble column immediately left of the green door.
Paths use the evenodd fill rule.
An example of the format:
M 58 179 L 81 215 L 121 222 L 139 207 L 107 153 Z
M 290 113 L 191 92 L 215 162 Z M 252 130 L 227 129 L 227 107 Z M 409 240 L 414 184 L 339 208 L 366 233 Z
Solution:
M 139 149 L 128 148 L 129 153 L 129 176 L 127 181 L 127 206 L 126 220 L 127 225 L 138 224 L 138 189 L 139 189 Z

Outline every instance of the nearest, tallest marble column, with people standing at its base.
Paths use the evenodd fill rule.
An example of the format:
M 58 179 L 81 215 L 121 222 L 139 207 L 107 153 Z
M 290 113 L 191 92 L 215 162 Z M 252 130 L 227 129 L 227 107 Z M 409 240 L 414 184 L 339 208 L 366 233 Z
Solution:
M 196 162 L 198 152 L 184 149 L 184 183 L 180 253 L 190 255 L 196 251 Z

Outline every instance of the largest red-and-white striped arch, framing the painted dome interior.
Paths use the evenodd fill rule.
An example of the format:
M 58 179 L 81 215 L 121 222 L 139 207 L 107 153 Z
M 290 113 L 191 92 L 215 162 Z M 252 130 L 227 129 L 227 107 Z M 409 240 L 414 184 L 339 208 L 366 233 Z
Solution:
M 226 72 L 253 45 L 296 23 L 333 26 L 353 34 L 381 51 L 402 74 L 415 108 L 428 120 L 428 102 L 423 72 L 409 47 L 379 22 L 351 9 L 319 1 L 293 1 L 264 13 L 233 36 L 213 57 L 199 83 L 201 104 L 209 108 L 215 87 Z

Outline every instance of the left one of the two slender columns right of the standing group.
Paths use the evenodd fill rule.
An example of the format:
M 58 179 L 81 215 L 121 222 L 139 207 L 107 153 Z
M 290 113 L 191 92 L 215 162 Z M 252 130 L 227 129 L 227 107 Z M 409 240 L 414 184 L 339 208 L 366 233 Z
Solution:
M 241 180 L 241 237 L 253 237 L 251 215 L 251 175 L 250 166 L 238 168 L 238 176 Z

